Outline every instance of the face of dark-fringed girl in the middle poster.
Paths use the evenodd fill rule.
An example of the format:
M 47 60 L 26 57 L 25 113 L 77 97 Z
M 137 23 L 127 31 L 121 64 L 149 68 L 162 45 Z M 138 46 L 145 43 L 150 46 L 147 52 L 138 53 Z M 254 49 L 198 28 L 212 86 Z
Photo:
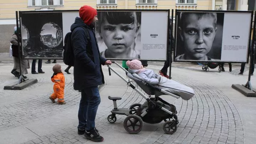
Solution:
M 137 25 L 124 24 L 111 25 L 107 21 L 102 23 L 101 36 L 112 53 L 124 53 L 129 50 L 137 36 Z

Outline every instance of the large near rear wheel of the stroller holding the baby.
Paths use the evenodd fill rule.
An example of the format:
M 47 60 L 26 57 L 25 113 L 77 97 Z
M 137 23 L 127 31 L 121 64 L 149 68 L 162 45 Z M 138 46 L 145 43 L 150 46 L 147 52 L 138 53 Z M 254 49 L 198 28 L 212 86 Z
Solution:
M 130 134 L 137 134 L 142 130 L 143 122 L 142 119 L 135 115 L 129 115 L 124 119 L 124 128 Z

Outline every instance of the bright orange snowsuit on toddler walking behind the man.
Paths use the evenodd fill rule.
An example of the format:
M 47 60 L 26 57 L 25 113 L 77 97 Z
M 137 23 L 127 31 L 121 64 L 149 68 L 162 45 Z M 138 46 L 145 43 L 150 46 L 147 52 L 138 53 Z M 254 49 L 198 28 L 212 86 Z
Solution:
M 55 100 L 58 98 L 58 102 L 64 102 L 64 87 L 65 87 L 65 76 L 63 73 L 57 73 L 56 75 L 52 76 L 53 85 L 53 94 L 51 97 Z M 57 89 L 59 89 L 57 91 Z

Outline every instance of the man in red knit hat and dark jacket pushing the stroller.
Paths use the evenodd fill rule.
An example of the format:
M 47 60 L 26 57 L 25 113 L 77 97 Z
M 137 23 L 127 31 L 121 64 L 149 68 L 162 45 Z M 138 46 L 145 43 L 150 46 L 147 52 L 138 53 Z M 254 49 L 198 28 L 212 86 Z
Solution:
M 105 83 L 101 65 L 111 64 L 111 61 L 100 56 L 94 31 L 97 10 L 84 5 L 79 10 L 79 16 L 70 27 L 75 57 L 74 89 L 81 91 L 78 134 L 84 134 L 94 142 L 102 142 L 104 138 L 95 128 L 95 117 L 101 102 L 98 85 Z

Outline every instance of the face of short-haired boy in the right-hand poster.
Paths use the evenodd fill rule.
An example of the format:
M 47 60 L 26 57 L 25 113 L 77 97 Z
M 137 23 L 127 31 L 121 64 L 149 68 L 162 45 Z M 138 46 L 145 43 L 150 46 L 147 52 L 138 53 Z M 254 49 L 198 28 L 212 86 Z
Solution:
M 217 27 L 213 17 L 203 16 L 198 20 L 195 14 L 187 17 L 187 25 L 180 28 L 186 56 L 191 59 L 204 60 L 212 48 Z

